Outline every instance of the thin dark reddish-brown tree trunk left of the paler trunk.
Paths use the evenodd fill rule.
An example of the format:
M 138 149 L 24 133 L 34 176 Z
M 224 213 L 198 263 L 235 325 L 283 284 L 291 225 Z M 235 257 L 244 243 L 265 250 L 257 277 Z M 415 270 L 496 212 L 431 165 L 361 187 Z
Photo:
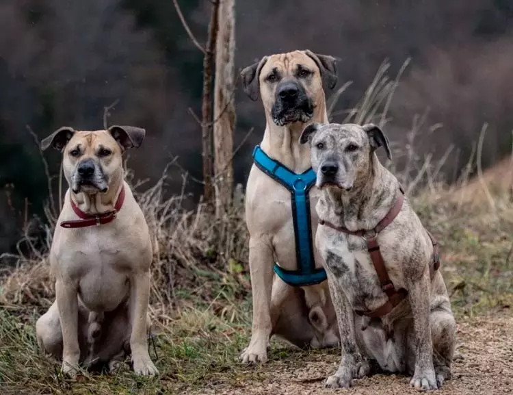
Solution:
M 215 51 L 215 38 L 218 36 L 218 9 L 219 0 L 213 2 L 212 12 L 209 23 L 209 37 L 205 56 L 203 58 L 203 93 L 201 102 L 201 141 L 202 141 L 202 159 L 203 159 L 203 181 L 204 198 L 207 203 L 212 203 L 212 69 Z

